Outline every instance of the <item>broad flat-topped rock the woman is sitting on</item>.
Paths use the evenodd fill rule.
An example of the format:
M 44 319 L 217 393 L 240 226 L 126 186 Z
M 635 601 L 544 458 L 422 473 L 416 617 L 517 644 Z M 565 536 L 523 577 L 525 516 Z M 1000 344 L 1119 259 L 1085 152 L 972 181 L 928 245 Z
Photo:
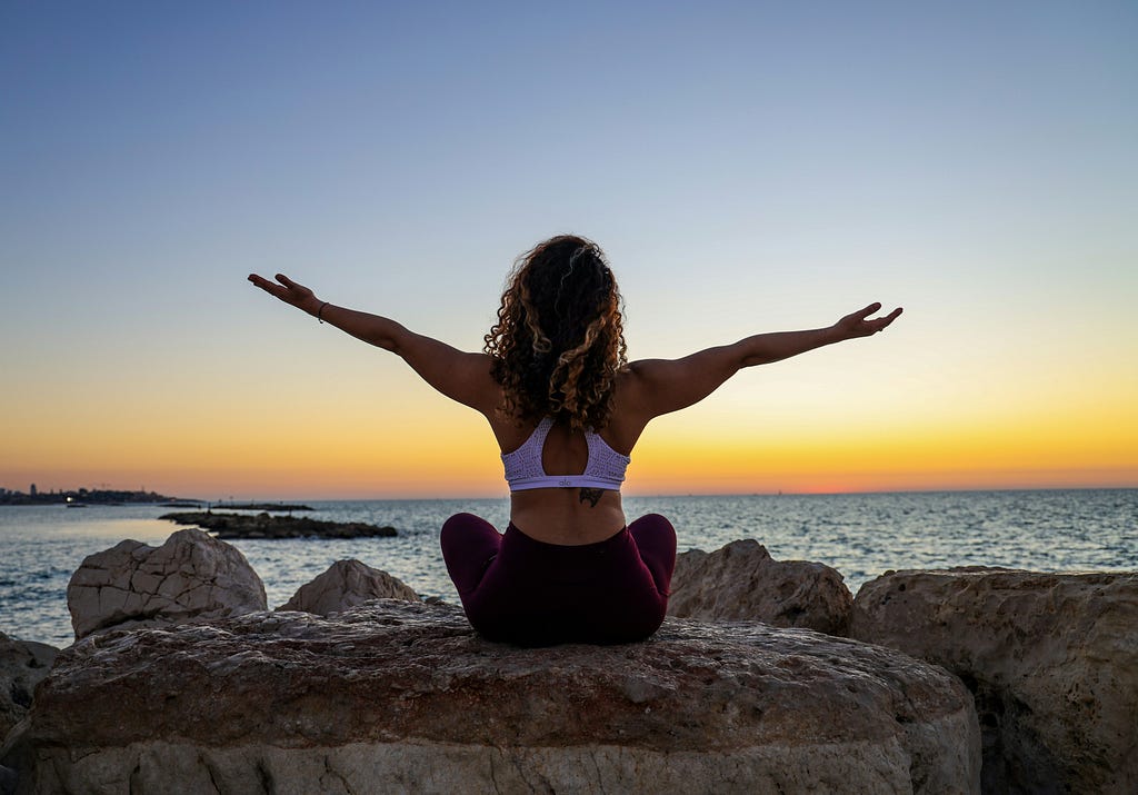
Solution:
M 897 651 L 668 620 L 521 649 L 378 600 L 92 636 L 0 763 L 56 792 L 975 793 L 965 687 Z

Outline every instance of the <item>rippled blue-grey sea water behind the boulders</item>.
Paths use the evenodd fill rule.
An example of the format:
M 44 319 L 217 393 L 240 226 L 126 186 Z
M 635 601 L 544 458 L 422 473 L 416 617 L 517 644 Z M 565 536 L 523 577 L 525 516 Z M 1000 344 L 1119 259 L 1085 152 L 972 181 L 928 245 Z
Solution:
M 336 560 L 357 558 L 423 596 L 457 601 L 438 549 L 448 516 L 504 527 L 506 499 L 310 502 L 315 518 L 393 525 L 394 539 L 233 541 L 265 583 L 270 608 Z M 178 530 L 160 506 L 0 506 L 0 632 L 67 646 L 66 589 L 93 552 L 123 539 L 162 543 Z M 855 593 L 888 569 L 964 565 L 1045 572 L 1138 569 L 1138 489 L 625 498 L 629 519 L 668 516 L 679 550 L 757 539 L 780 560 L 833 566 Z

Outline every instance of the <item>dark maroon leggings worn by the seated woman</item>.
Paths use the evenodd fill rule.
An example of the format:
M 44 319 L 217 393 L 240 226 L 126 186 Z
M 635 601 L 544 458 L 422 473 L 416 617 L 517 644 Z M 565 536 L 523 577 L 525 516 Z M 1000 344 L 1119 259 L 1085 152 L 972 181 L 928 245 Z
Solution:
M 443 559 L 471 626 L 522 646 L 622 644 L 655 632 L 668 608 L 676 531 L 658 514 L 579 547 L 505 533 L 473 514 L 443 525 Z

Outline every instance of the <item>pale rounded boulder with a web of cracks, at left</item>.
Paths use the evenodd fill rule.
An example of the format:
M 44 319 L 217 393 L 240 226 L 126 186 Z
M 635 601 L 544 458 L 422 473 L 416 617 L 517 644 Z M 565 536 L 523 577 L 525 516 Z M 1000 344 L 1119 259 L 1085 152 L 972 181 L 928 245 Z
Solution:
M 265 587 L 237 548 L 200 530 L 160 547 L 122 541 L 89 555 L 67 584 L 75 638 L 116 626 L 176 624 L 263 610 Z

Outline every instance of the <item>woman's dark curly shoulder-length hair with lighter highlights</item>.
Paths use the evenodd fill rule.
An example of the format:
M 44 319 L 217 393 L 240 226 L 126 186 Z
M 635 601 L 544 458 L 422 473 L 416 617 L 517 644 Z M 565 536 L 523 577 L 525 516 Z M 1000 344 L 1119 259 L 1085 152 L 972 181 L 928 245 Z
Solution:
M 552 417 L 574 431 L 605 426 L 627 363 L 617 281 L 601 248 L 560 235 L 518 257 L 486 335 L 503 416 Z

